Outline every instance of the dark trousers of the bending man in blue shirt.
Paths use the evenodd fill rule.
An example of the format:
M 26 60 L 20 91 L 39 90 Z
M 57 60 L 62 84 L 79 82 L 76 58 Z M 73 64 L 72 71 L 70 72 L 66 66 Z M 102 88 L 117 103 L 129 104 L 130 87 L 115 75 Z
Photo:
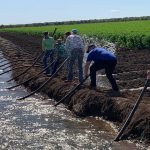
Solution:
M 96 71 L 105 69 L 106 76 L 109 79 L 112 89 L 118 91 L 116 80 L 112 75 L 116 64 L 117 61 L 115 60 L 94 62 L 90 67 L 91 86 L 96 87 Z

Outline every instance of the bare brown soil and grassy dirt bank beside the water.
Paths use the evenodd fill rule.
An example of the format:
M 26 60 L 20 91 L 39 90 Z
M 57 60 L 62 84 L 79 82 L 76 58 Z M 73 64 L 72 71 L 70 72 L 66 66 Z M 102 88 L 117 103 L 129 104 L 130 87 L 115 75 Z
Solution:
M 32 64 L 32 61 L 27 59 L 35 58 L 41 52 L 41 37 L 14 33 L 0 33 L 0 37 L 0 48 L 7 59 L 10 61 L 20 58 L 26 60 L 24 63 L 12 63 L 12 68 Z M 28 52 L 30 55 L 22 55 L 22 51 Z M 146 71 L 150 69 L 150 50 L 120 49 L 117 50 L 117 57 L 118 65 L 114 76 L 122 91 L 121 96 L 113 95 L 109 85 L 100 87 L 97 90 L 91 90 L 88 87 L 89 83 L 86 82 L 71 98 L 64 101 L 64 104 L 76 115 L 102 116 L 104 119 L 117 124 L 118 127 L 123 125 L 141 92 L 139 87 L 143 87 L 146 81 Z M 75 86 L 75 84 L 64 83 L 63 79 L 66 77 L 65 67 L 40 91 L 41 93 L 47 94 L 50 98 L 58 101 Z M 17 71 L 14 70 L 12 76 L 17 76 L 25 69 L 25 67 L 22 67 L 18 68 Z M 26 74 L 17 78 L 16 81 L 18 83 L 23 82 L 41 70 L 42 67 L 40 66 L 33 67 Z M 41 74 L 24 86 L 33 91 L 47 79 L 46 75 Z M 123 134 L 123 139 L 132 138 L 150 143 L 149 106 L 150 90 L 147 90 L 130 125 Z

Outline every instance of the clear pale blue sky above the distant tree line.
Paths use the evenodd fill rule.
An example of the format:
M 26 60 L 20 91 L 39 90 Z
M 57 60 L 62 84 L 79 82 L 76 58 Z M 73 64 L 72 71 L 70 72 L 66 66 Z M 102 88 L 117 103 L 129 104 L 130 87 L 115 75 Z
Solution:
M 150 16 L 150 0 L 0 0 L 0 25 Z

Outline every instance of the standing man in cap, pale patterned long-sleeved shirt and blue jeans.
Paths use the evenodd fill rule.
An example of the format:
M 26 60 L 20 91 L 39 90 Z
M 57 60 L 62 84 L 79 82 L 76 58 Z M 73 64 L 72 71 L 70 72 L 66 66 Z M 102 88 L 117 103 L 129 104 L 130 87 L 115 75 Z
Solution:
M 68 75 L 66 82 L 71 82 L 73 79 L 73 65 L 75 60 L 78 60 L 78 70 L 79 70 L 79 82 L 83 81 L 83 54 L 84 54 L 84 42 L 80 35 L 77 34 L 78 31 L 73 29 L 71 35 L 69 35 L 65 42 L 65 49 L 67 50 L 69 61 L 68 61 Z

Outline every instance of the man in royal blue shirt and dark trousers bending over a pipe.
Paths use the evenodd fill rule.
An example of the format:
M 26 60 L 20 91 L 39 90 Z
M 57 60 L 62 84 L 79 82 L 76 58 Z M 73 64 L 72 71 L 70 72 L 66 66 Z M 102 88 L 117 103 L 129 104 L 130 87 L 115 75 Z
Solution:
M 85 77 L 88 75 L 88 69 L 91 62 L 94 61 L 90 67 L 91 88 L 96 89 L 96 72 L 105 69 L 106 76 L 112 85 L 112 89 L 114 91 L 119 91 L 116 80 L 112 76 L 117 64 L 116 56 L 104 48 L 96 47 L 94 44 L 88 46 L 87 53 L 89 54 L 84 68 Z

